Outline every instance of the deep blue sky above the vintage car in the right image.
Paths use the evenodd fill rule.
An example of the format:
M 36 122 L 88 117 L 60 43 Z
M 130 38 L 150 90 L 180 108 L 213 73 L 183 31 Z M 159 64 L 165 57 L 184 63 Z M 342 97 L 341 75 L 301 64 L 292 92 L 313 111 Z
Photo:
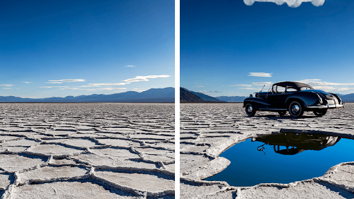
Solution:
M 354 2 L 306 1 L 181 1 L 180 86 L 248 96 L 297 81 L 354 93 Z

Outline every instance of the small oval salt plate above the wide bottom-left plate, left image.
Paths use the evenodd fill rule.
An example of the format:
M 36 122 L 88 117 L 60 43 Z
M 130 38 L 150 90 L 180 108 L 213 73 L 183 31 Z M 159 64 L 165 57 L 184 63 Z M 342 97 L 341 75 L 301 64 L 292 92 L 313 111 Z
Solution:
M 86 148 L 87 149 L 87 148 Z M 73 155 L 79 155 L 84 153 L 82 147 L 77 146 L 67 146 L 66 144 L 57 143 L 57 144 L 38 144 L 37 146 L 31 146 L 30 149 L 25 151 L 25 153 L 30 155 L 39 155 L 48 157 L 53 155 L 53 158 L 68 158 Z

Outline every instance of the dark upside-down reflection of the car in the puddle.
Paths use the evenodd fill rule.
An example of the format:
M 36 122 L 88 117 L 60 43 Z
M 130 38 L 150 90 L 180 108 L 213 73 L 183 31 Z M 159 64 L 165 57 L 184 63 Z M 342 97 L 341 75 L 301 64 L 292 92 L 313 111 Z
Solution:
M 252 138 L 252 142 L 264 142 L 257 147 L 258 151 L 264 151 L 264 145 L 273 145 L 275 153 L 283 155 L 295 155 L 306 150 L 320 151 L 327 146 L 333 146 L 339 142 L 338 136 L 308 134 L 308 133 L 277 133 L 272 135 L 259 135 Z M 285 149 L 283 149 L 285 148 Z

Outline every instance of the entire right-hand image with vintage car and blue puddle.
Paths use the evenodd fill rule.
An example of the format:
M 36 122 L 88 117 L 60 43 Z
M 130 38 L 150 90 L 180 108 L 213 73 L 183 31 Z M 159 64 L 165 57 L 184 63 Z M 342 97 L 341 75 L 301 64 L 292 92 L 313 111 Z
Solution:
M 354 2 L 180 1 L 180 198 L 354 198 Z

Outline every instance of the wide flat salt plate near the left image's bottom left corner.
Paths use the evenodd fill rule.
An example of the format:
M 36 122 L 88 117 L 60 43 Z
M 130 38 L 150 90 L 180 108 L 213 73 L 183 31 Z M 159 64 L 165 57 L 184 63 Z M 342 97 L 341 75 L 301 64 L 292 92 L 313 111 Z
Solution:
M 91 167 L 81 165 L 46 165 L 29 171 L 15 172 L 19 185 L 55 182 L 64 180 L 79 180 L 90 177 Z

